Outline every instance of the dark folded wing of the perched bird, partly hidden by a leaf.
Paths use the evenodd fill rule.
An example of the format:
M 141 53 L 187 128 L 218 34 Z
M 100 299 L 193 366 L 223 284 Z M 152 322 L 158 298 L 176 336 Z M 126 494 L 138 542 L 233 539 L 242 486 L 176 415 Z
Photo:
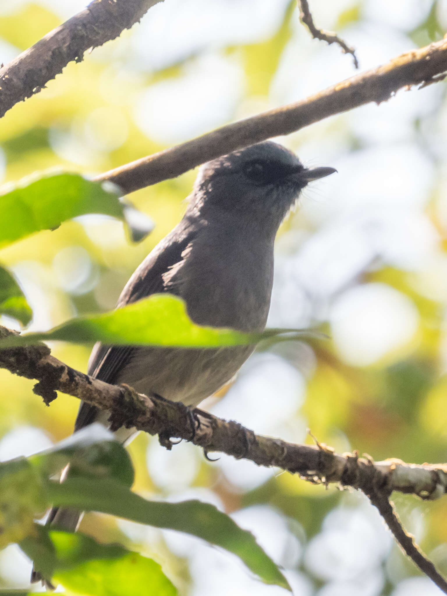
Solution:
M 179 225 L 164 238 L 136 269 L 119 297 L 117 308 L 151 294 L 175 291 L 172 287 L 166 288 L 163 274 L 182 260 L 182 253 L 194 235 L 194 226 Z M 114 383 L 119 372 L 132 358 L 134 350 L 132 346 L 104 346 L 98 342 L 89 359 L 88 374 L 105 383 Z M 97 412 L 95 406 L 82 403 L 77 412 L 75 431 L 93 423 Z

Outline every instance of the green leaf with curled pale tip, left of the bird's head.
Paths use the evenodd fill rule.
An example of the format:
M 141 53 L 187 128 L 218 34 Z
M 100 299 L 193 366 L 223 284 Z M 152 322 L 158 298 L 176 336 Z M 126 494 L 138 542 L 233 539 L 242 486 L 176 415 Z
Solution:
M 42 175 L 41 178 L 24 179 L 14 190 L 0 195 L 0 247 L 43 229 L 55 229 L 67 219 L 86 213 L 103 213 L 134 222 L 138 238 L 153 228 L 152 222 L 142 213 L 138 219 L 136 209 L 120 200 L 120 190 L 110 183 L 92 182 L 75 173 Z

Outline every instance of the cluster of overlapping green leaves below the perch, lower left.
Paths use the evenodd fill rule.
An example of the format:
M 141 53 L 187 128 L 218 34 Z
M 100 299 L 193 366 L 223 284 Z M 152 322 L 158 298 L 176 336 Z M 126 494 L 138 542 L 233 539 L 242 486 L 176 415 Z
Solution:
M 147 583 L 153 594 L 175 594 L 153 561 L 122 547 L 100 546 L 86 536 L 52 532 L 33 523 L 33 517 L 42 514 L 49 504 L 103 511 L 203 538 L 238 555 L 266 583 L 289 589 L 252 533 L 241 530 L 213 505 L 197 500 L 147 501 L 132 493 L 131 461 L 123 446 L 111 438 L 111 433 L 94 424 L 29 459 L 0 463 L 0 546 L 20 543 L 45 579 L 57 580 L 81 594 L 120 594 L 125 582 L 129 594 L 147 590 Z M 51 480 L 66 465 L 70 465 L 67 479 L 63 483 Z M 98 560 L 108 562 L 100 564 Z M 125 575 L 117 584 L 115 576 L 121 573 Z

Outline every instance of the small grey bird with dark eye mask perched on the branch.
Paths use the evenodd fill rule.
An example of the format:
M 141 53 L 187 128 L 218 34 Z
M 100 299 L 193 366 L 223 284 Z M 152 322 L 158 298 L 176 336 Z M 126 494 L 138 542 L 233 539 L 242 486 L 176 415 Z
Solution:
M 334 172 L 306 169 L 294 153 L 270 141 L 205 163 L 184 218 L 136 269 L 117 308 L 169 292 L 185 300 L 199 325 L 262 331 L 278 228 L 308 182 Z M 229 381 L 253 350 L 254 345 L 185 349 L 97 343 L 88 374 L 195 407 Z M 82 403 L 75 431 L 96 421 L 107 426 L 107 412 Z M 116 435 L 126 442 L 134 432 L 122 428 Z M 79 512 L 65 509 L 53 509 L 49 516 L 49 522 L 72 531 L 79 520 Z

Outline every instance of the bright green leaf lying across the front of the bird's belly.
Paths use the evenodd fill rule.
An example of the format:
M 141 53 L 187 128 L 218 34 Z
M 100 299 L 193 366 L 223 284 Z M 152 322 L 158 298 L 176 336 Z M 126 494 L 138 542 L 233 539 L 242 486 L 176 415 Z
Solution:
M 26 346 L 42 341 L 73 343 L 101 341 L 128 346 L 219 347 L 256 343 L 280 333 L 293 333 L 288 339 L 302 337 L 308 330 L 269 329 L 263 333 L 241 333 L 231 329 L 200 327 L 188 317 L 185 303 L 172 294 L 153 294 L 115 311 L 80 316 L 45 333 L 8 336 L 4 347 Z

